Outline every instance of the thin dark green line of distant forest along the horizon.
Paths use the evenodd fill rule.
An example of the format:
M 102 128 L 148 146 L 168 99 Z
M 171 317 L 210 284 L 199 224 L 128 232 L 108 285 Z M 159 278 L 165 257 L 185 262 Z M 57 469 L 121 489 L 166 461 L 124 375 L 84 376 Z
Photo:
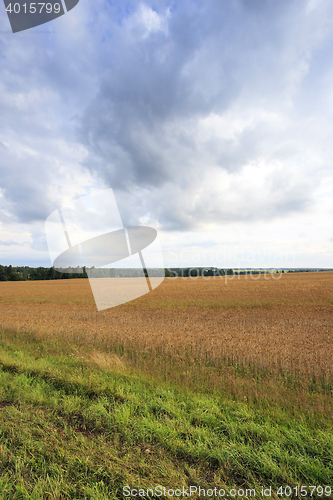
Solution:
M 159 277 L 166 278 L 196 278 L 196 277 L 222 277 L 231 275 L 265 274 L 265 273 L 295 273 L 313 271 L 332 271 L 326 268 L 242 268 L 223 269 L 217 267 L 173 267 L 173 268 L 86 268 L 69 267 L 66 269 L 55 269 L 54 267 L 29 267 L 29 266 L 3 266 L 0 265 L 0 281 L 39 281 L 39 280 L 59 280 L 59 279 L 79 279 L 79 278 L 139 278 L 139 277 Z M 88 273 L 89 276 L 88 276 Z

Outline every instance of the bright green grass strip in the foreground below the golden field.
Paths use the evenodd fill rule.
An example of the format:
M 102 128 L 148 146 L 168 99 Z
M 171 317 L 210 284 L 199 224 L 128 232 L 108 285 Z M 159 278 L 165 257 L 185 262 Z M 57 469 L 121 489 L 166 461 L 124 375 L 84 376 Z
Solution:
M 125 498 L 126 485 L 257 488 L 260 497 L 262 486 L 331 483 L 329 419 L 121 366 L 2 332 L 1 500 Z

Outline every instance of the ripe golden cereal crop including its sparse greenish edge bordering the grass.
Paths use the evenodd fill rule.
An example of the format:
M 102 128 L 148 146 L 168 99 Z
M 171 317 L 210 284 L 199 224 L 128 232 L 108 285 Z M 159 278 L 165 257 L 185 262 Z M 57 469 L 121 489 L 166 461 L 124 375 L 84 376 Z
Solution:
M 166 278 L 102 312 L 88 280 L 5 282 L 0 328 L 189 387 L 330 408 L 333 273 L 256 278 Z

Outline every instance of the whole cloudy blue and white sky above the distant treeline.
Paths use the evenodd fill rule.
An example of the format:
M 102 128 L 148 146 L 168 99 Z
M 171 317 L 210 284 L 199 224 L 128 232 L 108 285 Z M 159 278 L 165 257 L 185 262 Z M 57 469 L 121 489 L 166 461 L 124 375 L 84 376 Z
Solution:
M 333 267 L 333 3 L 80 0 L 12 33 L 0 2 L 0 264 L 112 188 L 166 267 Z

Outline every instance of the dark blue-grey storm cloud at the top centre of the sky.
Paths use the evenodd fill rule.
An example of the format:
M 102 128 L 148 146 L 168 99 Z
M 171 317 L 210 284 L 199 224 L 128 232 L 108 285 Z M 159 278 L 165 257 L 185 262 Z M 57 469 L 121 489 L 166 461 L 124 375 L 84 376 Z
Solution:
M 237 47 L 230 48 L 242 45 L 235 33 L 238 9 L 236 3 L 184 2 L 171 13 L 162 10 L 165 25 L 146 36 L 139 9 L 133 24 L 116 30 L 101 88 L 81 120 L 82 140 L 107 162 L 102 174 L 114 187 L 173 179 L 168 142 L 168 156 L 177 155 L 175 143 L 195 152 L 195 139 L 177 121 L 223 112 L 237 97 L 240 64 Z M 172 130 L 165 135 L 168 123 Z

